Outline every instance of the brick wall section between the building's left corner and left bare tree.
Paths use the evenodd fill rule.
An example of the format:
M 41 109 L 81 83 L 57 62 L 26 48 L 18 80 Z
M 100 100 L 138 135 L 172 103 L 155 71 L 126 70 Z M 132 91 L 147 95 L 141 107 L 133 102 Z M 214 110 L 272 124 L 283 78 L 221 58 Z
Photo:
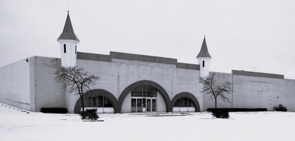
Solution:
M 62 83 L 54 80 L 54 72 L 61 67 L 58 58 L 34 56 L 34 111 L 39 112 L 41 108 L 64 108 L 65 92 Z

